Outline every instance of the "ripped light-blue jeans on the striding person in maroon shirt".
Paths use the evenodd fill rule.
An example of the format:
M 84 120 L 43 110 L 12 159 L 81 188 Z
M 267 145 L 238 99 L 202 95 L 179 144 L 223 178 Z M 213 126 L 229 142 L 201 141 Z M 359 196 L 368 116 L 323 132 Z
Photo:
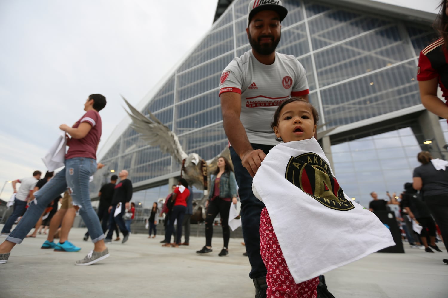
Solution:
M 65 160 L 65 168 L 48 181 L 35 195 L 25 215 L 6 240 L 20 244 L 34 227 L 47 205 L 65 190 L 71 192 L 73 206 L 79 207 L 79 214 L 89 230 L 92 242 L 104 239 L 98 215 L 93 210 L 89 177 L 96 172 L 96 161 L 91 158 L 75 157 Z

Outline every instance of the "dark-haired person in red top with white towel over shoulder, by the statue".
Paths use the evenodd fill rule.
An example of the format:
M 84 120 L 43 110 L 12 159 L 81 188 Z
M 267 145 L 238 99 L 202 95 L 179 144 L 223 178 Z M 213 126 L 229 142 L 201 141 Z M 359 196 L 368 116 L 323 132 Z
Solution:
M 174 221 L 177 220 L 176 242 L 165 243 L 164 247 L 179 247 L 182 237 L 182 221 L 184 220 L 185 212 L 187 211 L 187 198 L 190 196 L 190 190 L 188 190 L 188 182 L 184 178 L 179 179 L 178 186 L 174 189 L 171 196 L 171 200 L 174 201 L 172 207 L 171 216 L 169 219 L 169 225 L 165 232 L 165 239 L 171 239 L 172 230 L 174 229 Z

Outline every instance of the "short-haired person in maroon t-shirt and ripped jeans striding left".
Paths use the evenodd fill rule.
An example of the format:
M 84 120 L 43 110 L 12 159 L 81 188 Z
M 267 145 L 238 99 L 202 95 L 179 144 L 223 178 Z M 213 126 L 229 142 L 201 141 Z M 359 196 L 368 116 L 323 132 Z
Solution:
M 60 130 L 66 132 L 69 150 L 65 155 L 65 168 L 58 172 L 35 194 L 34 203 L 17 227 L 0 244 L 0 264 L 6 263 L 9 254 L 16 244 L 22 240 L 39 220 L 47 205 L 60 193 L 69 191 L 73 206 L 79 210 L 82 220 L 89 230 L 94 249 L 76 265 L 90 265 L 109 256 L 104 244 L 104 234 L 99 218 L 92 208 L 89 192 L 89 179 L 96 170 L 96 150 L 101 137 L 101 117 L 99 111 L 106 106 L 106 97 L 101 94 L 90 95 L 84 103 L 84 115 L 72 126 L 61 124 Z M 71 138 L 70 138 L 71 137 Z M 71 251 L 73 244 L 69 241 L 59 243 L 65 251 Z

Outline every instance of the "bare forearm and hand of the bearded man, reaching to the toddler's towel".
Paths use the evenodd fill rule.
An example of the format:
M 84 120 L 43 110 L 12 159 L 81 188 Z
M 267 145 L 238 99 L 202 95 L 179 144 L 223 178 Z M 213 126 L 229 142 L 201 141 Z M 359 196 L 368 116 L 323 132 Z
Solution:
M 250 176 L 255 176 L 266 154 L 262 150 L 254 150 L 247 138 L 246 130 L 240 120 L 241 95 L 235 92 L 221 94 L 221 111 L 224 131 L 233 149 L 241 158 L 241 164 Z

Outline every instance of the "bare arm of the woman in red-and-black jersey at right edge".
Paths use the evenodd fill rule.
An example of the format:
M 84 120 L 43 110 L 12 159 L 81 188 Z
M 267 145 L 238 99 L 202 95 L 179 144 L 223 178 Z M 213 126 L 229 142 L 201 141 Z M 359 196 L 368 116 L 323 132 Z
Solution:
M 419 81 L 418 88 L 420 89 L 420 100 L 428 111 L 439 117 L 448 119 L 448 106 L 437 97 L 438 84 L 438 77 L 428 81 Z

